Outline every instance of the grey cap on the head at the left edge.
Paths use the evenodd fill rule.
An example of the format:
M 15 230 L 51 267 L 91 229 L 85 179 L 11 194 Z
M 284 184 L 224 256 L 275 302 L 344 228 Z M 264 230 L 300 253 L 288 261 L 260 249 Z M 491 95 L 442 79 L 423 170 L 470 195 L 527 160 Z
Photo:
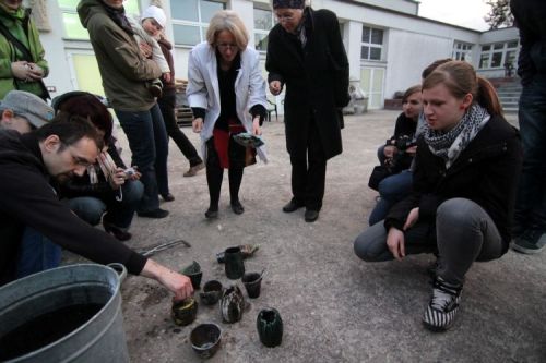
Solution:
M 35 128 L 41 128 L 54 118 L 54 109 L 38 96 L 24 90 L 10 90 L 0 101 L 1 110 L 12 110 Z

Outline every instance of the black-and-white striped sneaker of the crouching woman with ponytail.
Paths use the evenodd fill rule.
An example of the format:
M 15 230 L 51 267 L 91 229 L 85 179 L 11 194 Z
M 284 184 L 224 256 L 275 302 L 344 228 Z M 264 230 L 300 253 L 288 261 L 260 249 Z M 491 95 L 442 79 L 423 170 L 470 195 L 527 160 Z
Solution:
M 446 282 L 437 277 L 432 283 L 432 298 L 428 303 L 423 324 L 432 331 L 444 331 L 451 327 L 461 303 L 463 286 Z

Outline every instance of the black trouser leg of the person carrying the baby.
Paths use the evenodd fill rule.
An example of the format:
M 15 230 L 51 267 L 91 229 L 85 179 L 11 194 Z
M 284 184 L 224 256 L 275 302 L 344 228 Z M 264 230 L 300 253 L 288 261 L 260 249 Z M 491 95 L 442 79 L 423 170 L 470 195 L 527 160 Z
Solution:
M 162 97 L 157 98 L 157 105 L 162 110 L 163 120 L 165 121 L 165 129 L 167 130 L 167 135 L 173 138 L 183 156 L 190 161 L 190 167 L 201 164 L 201 157 L 199 156 L 195 147 L 191 144 L 188 137 L 180 131 L 180 128 L 176 123 L 176 93 L 174 89 L 164 89 Z

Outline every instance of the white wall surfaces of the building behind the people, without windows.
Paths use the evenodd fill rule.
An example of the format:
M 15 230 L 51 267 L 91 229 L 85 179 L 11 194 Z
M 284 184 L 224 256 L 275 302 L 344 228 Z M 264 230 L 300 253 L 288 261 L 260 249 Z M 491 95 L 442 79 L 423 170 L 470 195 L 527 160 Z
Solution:
M 170 1 L 183 0 L 163 0 L 168 23 L 171 19 Z M 150 2 L 150 0 L 140 0 L 141 9 L 147 7 Z M 269 0 L 256 0 L 256 2 L 269 3 Z M 71 57 L 74 53 L 91 55 L 92 47 L 88 41 L 63 39 L 62 17 L 57 0 L 50 0 L 46 3 L 52 29 L 40 33 L 40 39 L 50 66 L 50 75 L 46 78 L 46 85 L 55 87 L 56 92 L 51 93 L 55 97 L 78 88 Z M 251 45 L 253 45 L 253 3 L 252 0 L 227 1 L 227 9 L 235 10 L 244 20 L 251 38 Z M 373 8 L 366 7 L 366 3 L 372 4 Z M 396 90 L 403 90 L 419 82 L 422 70 L 434 60 L 451 57 L 454 41 L 474 45 L 472 63 L 477 68 L 480 44 L 519 38 L 518 29 L 514 27 L 479 33 L 415 16 L 418 4 L 412 0 L 361 0 L 354 2 L 312 0 L 312 7 L 333 10 L 343 24 L 343 40 L 347 50 L 352 80 L 359 80 L 361 69 L 365 66 L 385 69 L 383 83 L 385 98 L 392 97 Z M 385 7 L 396 10 L 399 13 L 376 7 Z M 383 59 L 380 62 L 363 62 L 360 60 L 363 24 L 384 29 Z M 171 26 L 167 26 L 166 34 L 169 39 L 173 39 Z M 190 49 L 191 47 L 174 48 L 177 78 L 187 78 L 188 76 Z M 502 75 L 499 70 L 479 72 L 486 76 Z

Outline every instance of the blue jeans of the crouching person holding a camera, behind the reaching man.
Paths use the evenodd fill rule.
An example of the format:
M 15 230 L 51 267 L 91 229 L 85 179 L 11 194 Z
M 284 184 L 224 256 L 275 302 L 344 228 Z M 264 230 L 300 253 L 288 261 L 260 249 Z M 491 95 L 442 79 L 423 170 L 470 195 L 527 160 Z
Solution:
M 108 195 L 103 199 L 94 196 L 79 196 L 68 199 L 66 203 L 78 217 L 85 220 L 91 226 L 97 226 L 100 218 L 107 211 L 108 221 L 121 229 L 128 229 L 139 207 L 144 185 L 138 180 L 128 180 L 121 186 L 122 199 L 116 201 L 115 195 Z M 119 195 L 119 192 L 116 192 Z

